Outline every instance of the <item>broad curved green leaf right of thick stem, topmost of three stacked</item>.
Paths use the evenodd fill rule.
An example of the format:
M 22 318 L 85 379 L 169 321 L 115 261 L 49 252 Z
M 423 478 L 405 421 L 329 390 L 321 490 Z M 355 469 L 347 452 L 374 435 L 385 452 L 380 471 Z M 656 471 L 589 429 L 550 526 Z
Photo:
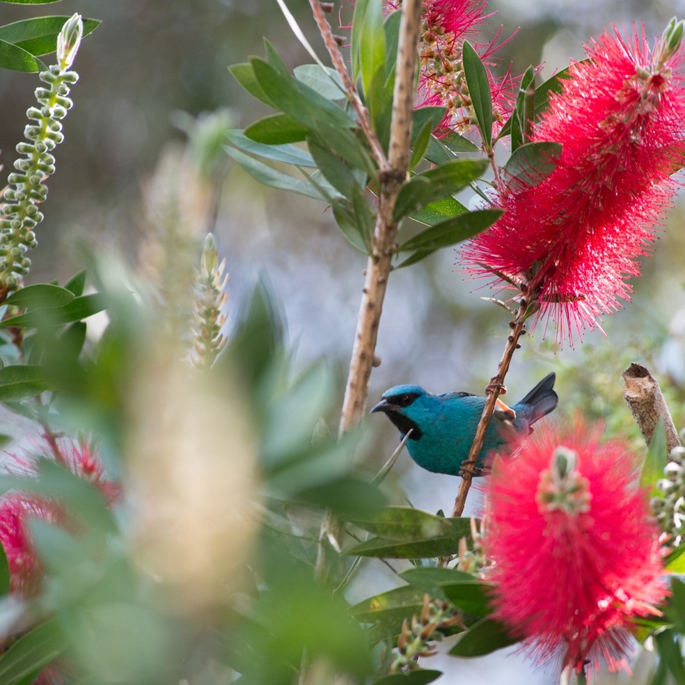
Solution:
M 433 200 L 457 193 L 479 178 L 485 168 L 485 159 L 454 159 L 416 174 L 397 194 L 393 221 L 399 221 L 403 216 L 420 210 Z

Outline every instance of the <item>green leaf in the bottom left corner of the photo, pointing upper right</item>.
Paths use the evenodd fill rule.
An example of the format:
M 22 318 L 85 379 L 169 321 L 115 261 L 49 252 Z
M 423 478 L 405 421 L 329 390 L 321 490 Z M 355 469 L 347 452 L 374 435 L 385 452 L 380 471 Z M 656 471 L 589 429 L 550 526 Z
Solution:
M 55 620 L 40 624 L 20 637 L 0 656 L 0 682 L 3 685 L 18 685 L 31 675 L 36 677 L 67 647 L 68 640 Z

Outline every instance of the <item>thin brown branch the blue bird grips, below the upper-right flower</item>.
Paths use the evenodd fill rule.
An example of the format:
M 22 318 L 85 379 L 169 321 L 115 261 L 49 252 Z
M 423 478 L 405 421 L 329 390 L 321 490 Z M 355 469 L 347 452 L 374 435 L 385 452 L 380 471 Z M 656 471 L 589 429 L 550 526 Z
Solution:
M 475 431 L 475 438 L 471 445 L 469 459 L 466 459 L 462 464 L 462 485 L 459 486 L 459 493 L 455 499 L 455 507 L 452 510 L 452 516 L 458 517 L 464 512 L 466 496 L 469 494 L 471 480 L 473 479 L 473 473 L 478 462 L 478 455 L 480 455 L 480 450 L 482 450 L 483 443 L 485 442 L 485 432 L 490 425 L 497 397 L 500 395 L 501 388 L 504 386 L 504 379 L 509 371 L 512 356 L 514 356 L 514 352 L 521 347 L 519 345 L 519 339 L 526 333 L 526 319 L 528 318 L 529 311 L 530 309 L 528 308 L 526 300 L 521 299 L 519 310 L 517 311 L 514 320 L 511 322 L 512 332 L 507 338 L 507 344 L 504 347 L 502 359 L 497 365 L 497 374 L 490 379 L 490 384 L 486 388 L 488 400 L 485 404 L 485 409 L 483 409 L 482 416 L 480 417 L 478 428 Z

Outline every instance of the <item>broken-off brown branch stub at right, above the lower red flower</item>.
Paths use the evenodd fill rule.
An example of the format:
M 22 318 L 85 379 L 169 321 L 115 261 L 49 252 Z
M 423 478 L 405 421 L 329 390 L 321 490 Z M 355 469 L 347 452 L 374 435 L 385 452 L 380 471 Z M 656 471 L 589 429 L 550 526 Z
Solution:
M 666 448 L 668 452 L 680 446 L 678 432 L 673 424 L 670 411 L 663 399 L 661 388 L 649 369 L 636 363 L 632 363 L 623 373 L 626 388 L 623 391 L 623 399 L 627 402 L 637 423 L 640 432 L 647 445 L 652 442 L 654 430 L 663 418 L 663 427 L 666 429 Z

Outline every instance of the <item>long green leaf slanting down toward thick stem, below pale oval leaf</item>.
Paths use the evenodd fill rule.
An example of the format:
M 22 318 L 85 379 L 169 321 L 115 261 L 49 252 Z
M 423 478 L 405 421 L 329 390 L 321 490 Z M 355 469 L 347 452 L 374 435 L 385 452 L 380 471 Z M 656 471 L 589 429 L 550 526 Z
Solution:
M 309 129 L 316 129 L 317 123 L 354 128 L 354 121 L 347 113 L 315 90 L 283 75 L 271 64 L 253 57 L 250 61 L 255 78 L 278 109 L 292 116 Z

